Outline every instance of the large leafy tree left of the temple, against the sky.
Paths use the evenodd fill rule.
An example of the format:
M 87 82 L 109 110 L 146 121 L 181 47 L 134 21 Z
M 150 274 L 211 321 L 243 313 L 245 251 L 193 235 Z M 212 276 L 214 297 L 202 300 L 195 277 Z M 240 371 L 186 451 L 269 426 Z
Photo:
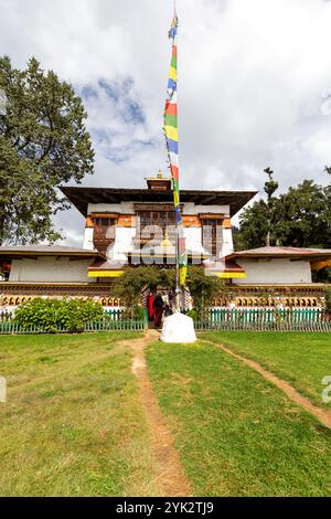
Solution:
M 0 243 L 53 242 L 56 188 L 93 173 L 82 99 L 35 59 L 21 71 L 0 57 Z

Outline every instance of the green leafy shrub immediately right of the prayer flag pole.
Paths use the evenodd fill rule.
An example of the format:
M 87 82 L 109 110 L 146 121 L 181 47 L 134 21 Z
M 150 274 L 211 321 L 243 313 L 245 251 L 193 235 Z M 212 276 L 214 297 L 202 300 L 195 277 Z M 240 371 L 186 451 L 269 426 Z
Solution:
M 213 295 L 220 294 L 225 289 L 224 282 L 216 276 L 206 276 L 202 266 L 189 267 L 186 284 L 201 319 L 204 317 Z

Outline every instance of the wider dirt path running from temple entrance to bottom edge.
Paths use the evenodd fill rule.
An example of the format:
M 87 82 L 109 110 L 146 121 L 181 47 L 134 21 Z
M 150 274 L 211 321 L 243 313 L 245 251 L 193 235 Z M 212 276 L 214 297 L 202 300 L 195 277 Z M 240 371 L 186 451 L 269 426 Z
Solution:
M 132 372 L 139 382 L 141 403 L 152 436 L 153 456 L 159 467 L 158 483 L 163 496 L 186 497 L 192 496 L 190 485 L 147 372 L 145 348 L 159 336 L 157 330 L 148 330 L 143 338 L 121 343 L 129 346 L 134 353 Z

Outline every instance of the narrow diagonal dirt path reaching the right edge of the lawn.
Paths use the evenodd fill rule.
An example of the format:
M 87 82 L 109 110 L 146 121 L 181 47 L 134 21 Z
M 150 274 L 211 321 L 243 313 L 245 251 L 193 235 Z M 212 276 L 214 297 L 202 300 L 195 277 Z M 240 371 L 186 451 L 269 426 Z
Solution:
M 203 342 L 217 346 L 226 353 L 231 354 L 237 360 L 241 360 L 244 364 L 257 371 L 259 374 L 261 374 L 261 377 L 264 377 L 264 379 L 268 380 L 274 385 L 279 388 L 292 402 L 300 405 L 309 413 L 313 414 L 313 416 L 316 416 L 323 425 L 331 428 L 331 413 L 329 411 L 324 411 L 321 407 L 318 407 L 309 399 L 302 396 L 290 383 L 286 382 L 282 379 L 279 379 L 279 377 L 263 368 L 258 362 L 255 362 L 254 360 L 247 359 L 246 357 L 235 353 L 229 348 L 226 348 L 223 345 L 216 345 L 215 342 L 210 342 L 207 340 L 203 340 Z

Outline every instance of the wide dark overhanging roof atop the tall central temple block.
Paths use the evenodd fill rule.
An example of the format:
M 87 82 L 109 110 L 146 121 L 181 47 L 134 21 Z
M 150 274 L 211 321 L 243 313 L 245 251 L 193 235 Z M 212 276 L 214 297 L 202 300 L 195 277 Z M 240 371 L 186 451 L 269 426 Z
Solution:
M 120 203 L 120 202 L 172 202 L 172 191 L 154 191 L 151 189 L 127 188 L 71 188 L 61 187 L 75 208 L 87 215 L 89 203 Z M 229 205 L 231 216 L 236 214 L 257 191 L 195 191 L 181 190 L 181 202 L 194 202 L 201 205 Z

